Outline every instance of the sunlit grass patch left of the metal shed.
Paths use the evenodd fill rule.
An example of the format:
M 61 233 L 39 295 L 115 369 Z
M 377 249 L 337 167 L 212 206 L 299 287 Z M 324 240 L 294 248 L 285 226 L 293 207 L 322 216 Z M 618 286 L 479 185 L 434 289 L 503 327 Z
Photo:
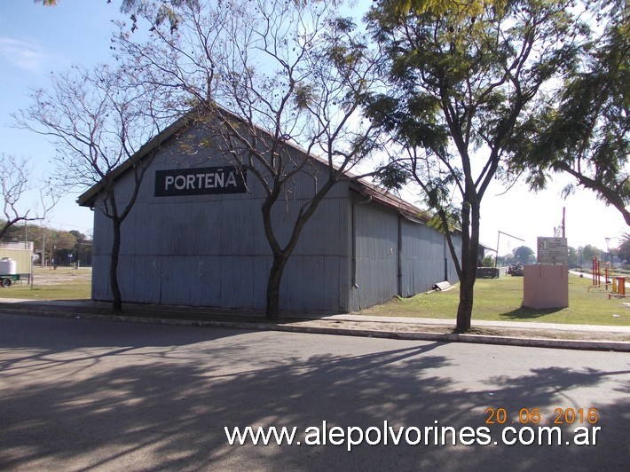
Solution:
M 82 300 L 91 296 L 91 268 L 73 271 L 69 267 L 55 270 L 34 267 L 33 287 L 26 280 L 15 282 L 11 287 L 0 287 L 3 298 L 28 300 Z

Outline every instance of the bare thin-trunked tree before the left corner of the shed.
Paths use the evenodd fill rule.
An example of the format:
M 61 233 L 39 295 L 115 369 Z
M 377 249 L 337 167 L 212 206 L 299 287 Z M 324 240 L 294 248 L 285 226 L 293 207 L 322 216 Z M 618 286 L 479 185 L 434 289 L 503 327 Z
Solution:
M 154 105 L 161 97 L 156 90 L 138 85 L 123 68 L 101 66 L 93 71 L 74 67 L 56 77 L 51 90 L 35 90 L 32 98 L 33 104 L 15 115 L 19 126 L 52 139 L 66 185 L 82 189 L 98 185 L 102 202 L 98 210 L 112 222 L 109 273 L 114 311 L 122 311 L 117 275 L 121 225 L 151 163 L 151 155 L 142 161 L 134 155 L 148 138 L 159 134 L 162 121 Z M 133 176 L 130 195 L 119 195 L 114 186 L 114 169 L 123 162 Z

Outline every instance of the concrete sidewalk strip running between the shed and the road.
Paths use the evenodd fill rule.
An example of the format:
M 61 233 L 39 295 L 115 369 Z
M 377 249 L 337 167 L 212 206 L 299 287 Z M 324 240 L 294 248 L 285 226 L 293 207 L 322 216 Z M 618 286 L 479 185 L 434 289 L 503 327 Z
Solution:
M 125 304 L 123 312 L 116 314 L 111 310 L 111 303 L 90 300 L 34 301 L 11 298 L 0 299 L 0 312 L 76 319 L 222 326 L 248 330 L 630 352 L 630 326 L 565 325 L 536 321 L 473 319 L 470 334 L 453 334 L 454 319 L 285 313 L 278 323 L 270 323 L 259 311 Z

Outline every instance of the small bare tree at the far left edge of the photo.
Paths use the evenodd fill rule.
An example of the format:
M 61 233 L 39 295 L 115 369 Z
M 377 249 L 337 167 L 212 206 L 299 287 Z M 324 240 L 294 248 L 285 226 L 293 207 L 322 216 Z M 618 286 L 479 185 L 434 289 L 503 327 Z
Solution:
M 38 185 L 39 202 L 25 204 L 27 194 L 33 190 L 28 161 L 5 153 L 0 154 L 0 197 L 3 201 L 4 220 L 0 222 L 0 240 L 17 223 L 43 220 L 59 201 L 59 190 L 50 185 Z M 40 208 L 41 204 L 41 208 Z

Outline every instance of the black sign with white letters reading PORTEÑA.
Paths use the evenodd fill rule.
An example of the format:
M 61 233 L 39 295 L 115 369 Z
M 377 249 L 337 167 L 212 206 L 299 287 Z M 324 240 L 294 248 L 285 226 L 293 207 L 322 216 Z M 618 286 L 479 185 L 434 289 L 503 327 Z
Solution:
M 247 173 L 234 166 L 155 171 L 155 196 L 247 193 Z

